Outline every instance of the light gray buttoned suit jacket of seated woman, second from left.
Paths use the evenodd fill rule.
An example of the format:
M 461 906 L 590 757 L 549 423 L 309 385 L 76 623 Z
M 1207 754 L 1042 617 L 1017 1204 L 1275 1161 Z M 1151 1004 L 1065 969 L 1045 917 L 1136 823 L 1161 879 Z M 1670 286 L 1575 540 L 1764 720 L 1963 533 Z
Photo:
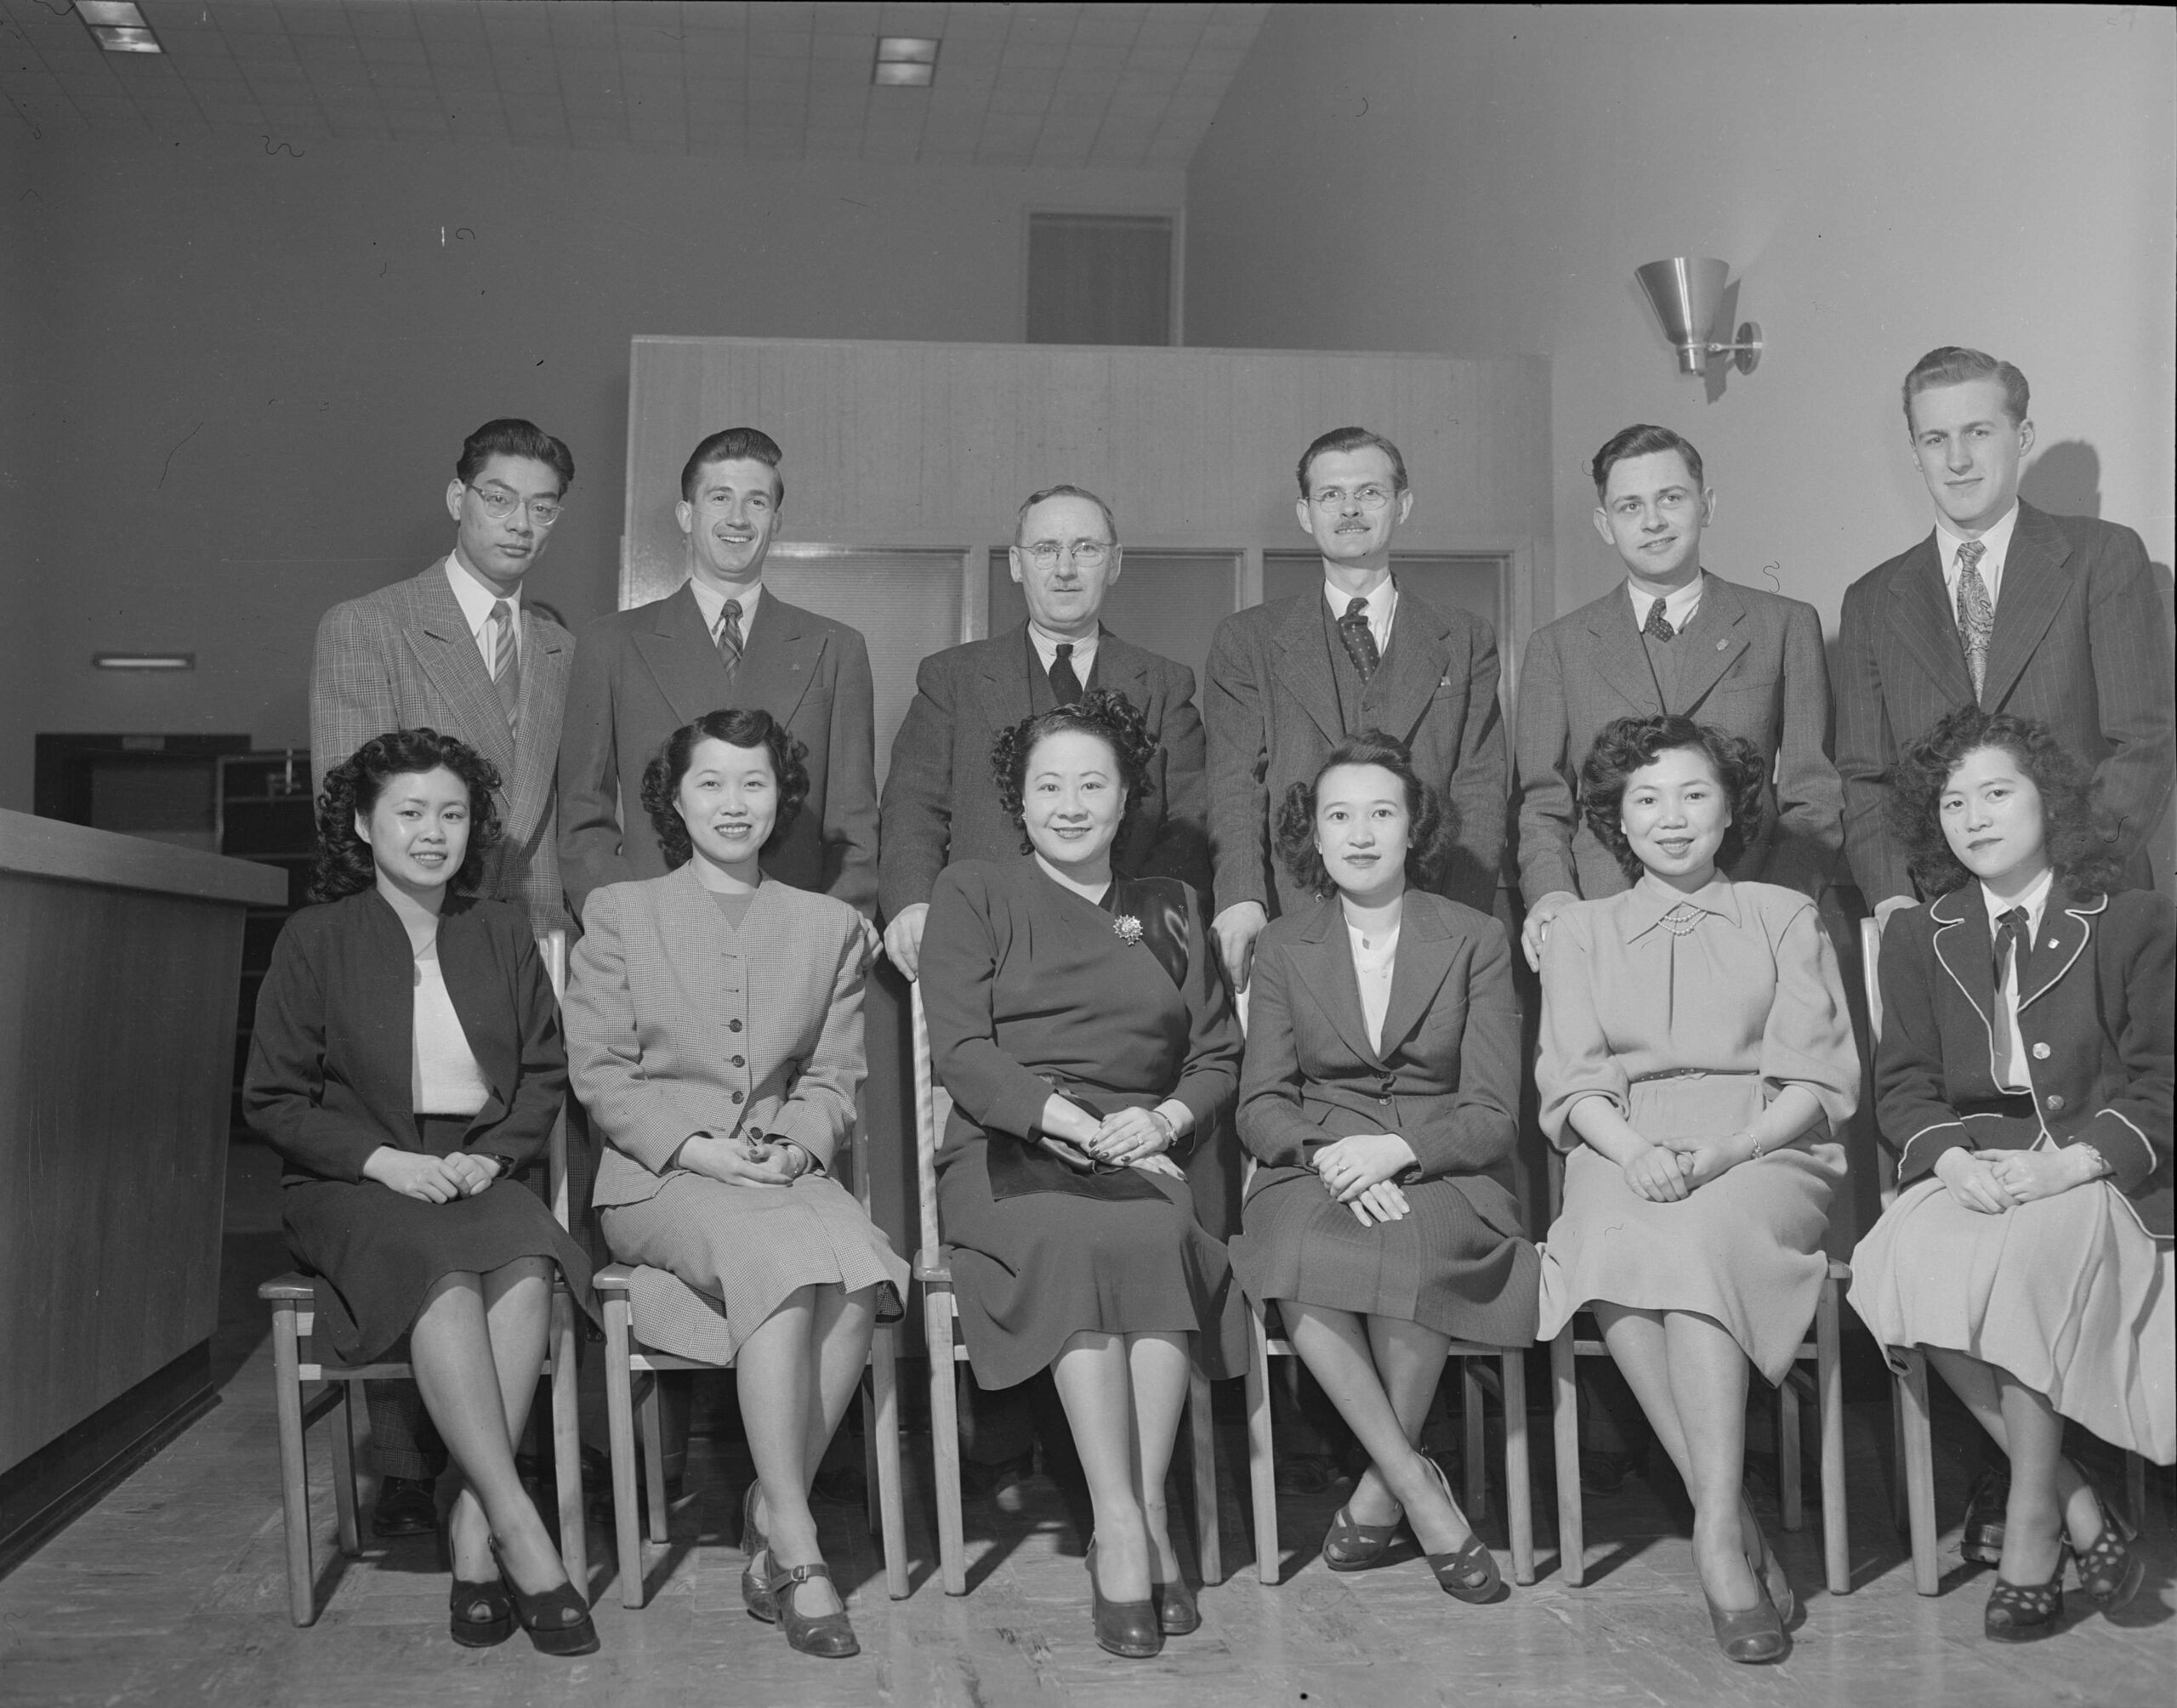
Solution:
M 590 1201 L 642 1203 L 697 1131 L 832 1162 L 862 1084 L 862 918 L 768 881 L 734 931 L 681 866 L 607 883 L 566 986 L 568 1077 L 605 1140 Z

